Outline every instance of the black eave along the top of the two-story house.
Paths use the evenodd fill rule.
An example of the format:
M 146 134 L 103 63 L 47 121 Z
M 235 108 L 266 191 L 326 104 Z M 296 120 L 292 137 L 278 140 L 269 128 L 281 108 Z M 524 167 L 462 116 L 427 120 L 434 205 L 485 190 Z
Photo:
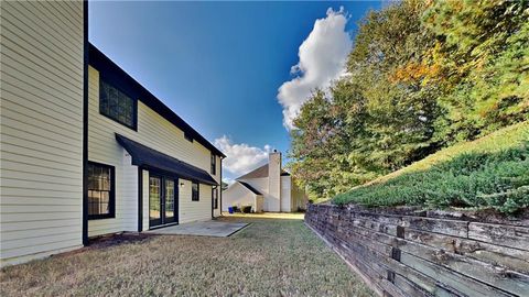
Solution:
M 216 155 L 226 157 L 220 150 L 215 147 L 209 141 L 202 136 L 196 130 L 194 130 L 188 123 L 180 118 L 174 111 L 165 106 L 160 99 L 154 97 L 148 89 L 145 89 L 140 82 L 121 69 L 116 63 L 107 57 L 101 51 L 99 51 L 94 44 L 89 44 L 89 57 L 88 64 L 99 72 L 99 75 L 106 80 L 115 85 L 121 91 L 131 96 L 134 99 L 139 99 L 145 106 L 158 112 L 175 127 L 184 131 L 184 133 L 191 135 L 193 140 L 197 141 L 206 148 L 209 148 Z

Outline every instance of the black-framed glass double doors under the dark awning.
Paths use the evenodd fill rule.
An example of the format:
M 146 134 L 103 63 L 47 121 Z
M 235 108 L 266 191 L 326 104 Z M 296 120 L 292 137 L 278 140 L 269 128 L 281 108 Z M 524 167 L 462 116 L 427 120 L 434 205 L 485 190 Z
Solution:
M 177 222 L 177 179 L 150 175 L 149 227 Z

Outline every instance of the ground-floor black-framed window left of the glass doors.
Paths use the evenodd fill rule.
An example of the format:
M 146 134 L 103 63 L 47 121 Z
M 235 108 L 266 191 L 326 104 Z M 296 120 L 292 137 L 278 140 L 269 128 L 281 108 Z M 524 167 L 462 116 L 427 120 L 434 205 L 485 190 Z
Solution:
M 88 162 L 88 219 L 115 217 L 114 166 Z

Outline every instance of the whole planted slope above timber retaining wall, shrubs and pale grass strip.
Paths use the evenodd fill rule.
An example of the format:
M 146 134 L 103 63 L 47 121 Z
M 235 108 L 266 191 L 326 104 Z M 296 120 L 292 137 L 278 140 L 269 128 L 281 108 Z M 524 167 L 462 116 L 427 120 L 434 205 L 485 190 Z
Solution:
M 457 144 L 333 198 L 337 205 L 529 207 L 529 121 Z

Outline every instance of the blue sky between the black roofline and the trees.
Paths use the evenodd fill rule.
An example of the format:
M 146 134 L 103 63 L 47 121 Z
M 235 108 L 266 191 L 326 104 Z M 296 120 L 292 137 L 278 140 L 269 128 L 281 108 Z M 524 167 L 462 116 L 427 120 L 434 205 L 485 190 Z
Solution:
M 333 47 L 328 45 L 333 40 L 321 45 L 325 30 L 353 36 L 357 21 L 380 6 L 374 1 L 89 1 L 89 40 L 206 139 L 228 151 L 224 176 L 234 178 L 264 162 L 267 150 L 289 150 L 278 89 L 303 76 L 303 70 L 325 73 L 320 68 L 327 62 L 310 56 L 311 46 L 341 53 L 325 47 Z M 330 8 L 339 11 L 341 7 L 342 13 L 327 14 Z M 304 50 L 307 69 L 301 63 L 301 73 L 292 75 L 291 67 L 300 63 L 300 45 L 315 21 L 336 14 L 346 14 L 345 28 L 325 29 L 322 22 L 323 33 L 314 33 Z M 336 32 L 335 37 L 343 35 Z M 344 42 L 344 46 L 350 44 Z M 293 94 L 288 96 L 303 94 L 291 87 Z M 283 102 L 288 100 L 299 103 L 301 99 Z

